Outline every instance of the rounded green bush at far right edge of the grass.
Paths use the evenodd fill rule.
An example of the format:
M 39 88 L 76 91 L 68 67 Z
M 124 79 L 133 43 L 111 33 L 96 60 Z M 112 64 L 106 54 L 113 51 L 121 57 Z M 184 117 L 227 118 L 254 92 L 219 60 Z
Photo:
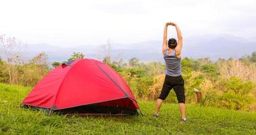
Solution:
M 253 90 L 256 84 L 251 81 L 243 81 L 240 78 L 231 77 L 228 80 L 222 79 L 219 82 L 220 90 L 207 94 L 203 105 L 224 107 L 228 109 L 249 110 L 250 103 L 253 103 Z M 217 93 L 218 91 L 218 93 Z

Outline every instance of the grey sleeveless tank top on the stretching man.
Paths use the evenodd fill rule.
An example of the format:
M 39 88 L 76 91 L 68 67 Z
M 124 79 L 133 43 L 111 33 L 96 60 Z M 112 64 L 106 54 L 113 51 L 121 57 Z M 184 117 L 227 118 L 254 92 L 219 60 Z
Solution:
M 180 76 L 181 75 L 181 58 L 176 56 L 176 51 L 173 49 L 172 54 L 169 54 L 167 50 L 163 56 L 166 65 L 165 74 L 168 76 Z

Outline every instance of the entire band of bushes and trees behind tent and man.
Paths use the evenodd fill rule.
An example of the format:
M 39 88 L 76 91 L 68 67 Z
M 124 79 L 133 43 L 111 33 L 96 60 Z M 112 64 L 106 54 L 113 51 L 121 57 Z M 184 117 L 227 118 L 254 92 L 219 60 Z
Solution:
M 140 62 L 136 57 L 124 61 L 111 61 L 110 49 L 103 62 L 116 70 L 140 100 L 155 100 L 161 92 L 165 78 L 165 65 L 161 62 Z M 196 103 L 195 89 L 202 93 L 201 105 L 228 109 L 255 110 L 256 64 L 251 62 L 256 53 L 248 59 L 209 58 L 182 59 L 182 77 L 185 82 L 186 103 Z M 83 58 L 82 53 L 73 53 L 69 60 Z M 48 57 L 39 53 L 26 63 L 10 64 L 0 59 L 0 82 L 34 86 L 49 72 Z M 250 61 L 250 62 L 245 62 Z M 60 62 L 53 62 L 53 67 Z M 10 78 L 11 76 L 11 78 Z M 11 79 L 11 81 L 10 81 Z M 254 94 L 254 95 L 253 95 Z M 172 90 L 166 103 L 177 103 Z

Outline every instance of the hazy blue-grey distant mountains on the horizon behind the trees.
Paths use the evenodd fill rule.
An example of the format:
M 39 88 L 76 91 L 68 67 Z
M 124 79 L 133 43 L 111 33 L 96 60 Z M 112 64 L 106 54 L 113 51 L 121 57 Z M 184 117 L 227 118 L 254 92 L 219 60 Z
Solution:
M 114 60 L 137 57 L 140 61 L 163 61 L 161 54 L 162 41 L 145 41 L 134 44 L 113 43 L 111 55 Z M 63 61 L 73 52 L 82 52 L 85 57 L 98 59 L 103 57 L 100 45 L 84 45 L 80 47 L 56 47 L 47 44 L 28 45 L 30 57 L 44 51 L 49 55 L 49 61 Z M 182 57 L 202 58 L 209 57 L 238 59 L 244 55 L 251 55 L 256 51 L 256 42 L 246 41 L 235 36 L 204 35 L 184 38 Z

